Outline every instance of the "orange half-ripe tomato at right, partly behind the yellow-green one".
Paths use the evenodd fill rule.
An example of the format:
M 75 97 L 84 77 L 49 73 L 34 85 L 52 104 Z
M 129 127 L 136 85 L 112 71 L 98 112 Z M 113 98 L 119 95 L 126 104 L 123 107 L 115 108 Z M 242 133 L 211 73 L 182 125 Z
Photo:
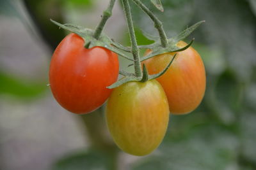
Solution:
M 177 46 L 187 44 L 179 41 Z M 150 51 L 146 52 L 146 55 Z M 164 53 L 143 61 L 149 74 L 162 71 L 170 62 L 174 53 Z M 178 52 L 170 68 L 157 78 L 168 98 L 170 112 L 189 113 L 201 103 L 205 92 L 205 68 L 200 55 L 191 46 Z

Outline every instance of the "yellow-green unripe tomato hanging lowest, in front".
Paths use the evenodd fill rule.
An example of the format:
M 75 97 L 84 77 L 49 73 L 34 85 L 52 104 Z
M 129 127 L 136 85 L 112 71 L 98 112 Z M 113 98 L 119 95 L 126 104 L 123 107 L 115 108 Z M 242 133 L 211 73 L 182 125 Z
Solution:
M 159 146 L 169 115 L 166 95 L 156 80 L 117 87 L 106 106 L 108 129 L 116 145 L 132 155 L 147 155 Z

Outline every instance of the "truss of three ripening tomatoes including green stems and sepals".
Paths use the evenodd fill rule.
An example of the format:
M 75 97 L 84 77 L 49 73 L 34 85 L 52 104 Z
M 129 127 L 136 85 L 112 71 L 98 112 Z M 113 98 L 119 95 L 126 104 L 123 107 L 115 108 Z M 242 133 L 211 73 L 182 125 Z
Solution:
M 75 34 L 68 35 L 56 48 L 49 76 L 54 97 L 63 108 L 73 113 L 95 110 L 109 97 L 110 89 L 114 89 L 106 106 L 109 132 L 124 152 L 147 155 L 163 140 L 170 111 L 187 113 L 195 109 L 204 96 L 204 64 L 200 55 L 189 47 L 193 40 L 188 45 L 180 41 L 204 21 L 197 22 L 177 36 L 167 38 L 163 24 L 152 11 L 140 0 L 132 1 L 154 22 L 159 38 L 145 34 L 149 39 L 156 40 L 154 43 L 138 46 L 129 0 L 121 2 L 131 46 L 123 46 L 104 34 L 102 30 L 115 4 L 115 0 L 110 0 L 95 30 L 51 20 Z M 151 2 L 157 9 L 163 10 L 160 1 Z M 148 48 L 152 53 L 140 57 L 141 48 Z M 177 53 L 174 52 L 179 52 L 177 59 Z M 119 70 L 116 54 L 132 61 L 134 73 Z M 141 61 L 144 61 L 142 68 Z M 118 73 L 123 76 L 120 80 L 117 80 Z M 85 123 L 89 122 L 87 118 L 84 117 Z M 96 129 L 93 128 L 93 133 Z

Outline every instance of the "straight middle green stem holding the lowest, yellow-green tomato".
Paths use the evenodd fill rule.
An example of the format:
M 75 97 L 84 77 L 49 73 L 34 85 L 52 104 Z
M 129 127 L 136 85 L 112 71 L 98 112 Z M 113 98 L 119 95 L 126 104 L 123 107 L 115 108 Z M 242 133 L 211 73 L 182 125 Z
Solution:
M 129 35 L 130 35 L 130 39 L 131 39 L 131 53 L 132 53 L 133 58 L 134 58 L 135 75 L 137 77 L 141 77 L 142 76 L 142 70 L 141 70 L 141 66 L 140 66 L 140 51 L 139 51 L 139 48 L 138 48 L 138 45 L 137 45 L 136 36 L 135 36 L 135 32 L 134 32 L 134 27 L 133 27 L 133 24 L 132 24 L 131 8 L 130 8 L 128 0 L 122 0 L 122 4 L 124 6 L 124 13 L 125 13 L 125 17 L 126 17 L 126 20 L 127 20 L 128 31 L 129 31 Z

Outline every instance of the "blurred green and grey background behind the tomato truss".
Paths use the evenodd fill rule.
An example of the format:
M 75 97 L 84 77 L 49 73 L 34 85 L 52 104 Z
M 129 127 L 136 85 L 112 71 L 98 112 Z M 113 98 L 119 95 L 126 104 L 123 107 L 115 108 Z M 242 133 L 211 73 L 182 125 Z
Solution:
M 146 157 L 120 151 L 109 137 L 104 106 L 83 117 L 68 113 L 47 87 L 51 55 L 68 32 L 49 21 L 95 28 L 108 0 L 0 0 L 0 169 L 255 170 L 256 1 L 150 1 L 168 36 L 206 20 L 187 39 L 207 71 L 202 104 L 189 115 L 171 116 L 163 143 Z M 140 45 L 157 35 L 134 4 Z M 117 1 L 104 32 L 129 45 Z M 188 42 L 187 41 L 187 42 Z M 120 58 L 121 67 L 129 62 Z

